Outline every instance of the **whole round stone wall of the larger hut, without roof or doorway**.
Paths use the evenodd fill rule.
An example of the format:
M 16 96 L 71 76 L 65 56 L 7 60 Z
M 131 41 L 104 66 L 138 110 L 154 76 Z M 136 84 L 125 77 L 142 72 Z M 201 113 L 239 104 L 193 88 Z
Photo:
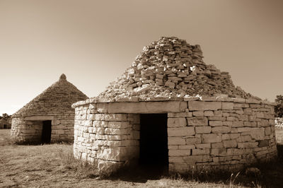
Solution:
M 238 170 L 277 157 L 274 105 L 243 98 L 76 102 L 74 156 L 113 172 L 139 158 L 139 114 L 168 113 L 171 172 Z

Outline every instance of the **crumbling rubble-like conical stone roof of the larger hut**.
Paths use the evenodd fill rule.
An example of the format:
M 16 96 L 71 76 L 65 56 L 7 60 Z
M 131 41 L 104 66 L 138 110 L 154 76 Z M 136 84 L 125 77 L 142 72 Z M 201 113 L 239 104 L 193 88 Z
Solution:
M 97 98 L 252 96 L 235 87 L 228 72 L 205 64 L 202 58 L 200 45 L 189 45 L 178 37 L 161 37 L 144 47 L 132 66 Z

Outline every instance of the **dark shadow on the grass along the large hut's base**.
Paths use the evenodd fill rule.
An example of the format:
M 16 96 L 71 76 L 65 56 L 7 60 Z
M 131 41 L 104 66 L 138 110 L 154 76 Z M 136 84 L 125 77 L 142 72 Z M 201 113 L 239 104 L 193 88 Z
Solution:
M 282 187 L 283 186 L 283 145 L 277 144 L 278 158 L 270 163 L 253 165 L 260 169 L 260 175 L 246 175 L 245 170 L 231 174 L 231 172 L 199 172 L 187 175 L 168 175 L 168 170 L 142 167 L 121 170 L 110 177 L 102 177 L 103 180 L 122 180 L 125 182 L 146 183 L 148 180 L 160 180 L 170 178 L 173 180 L 197 181 L 205 183 L 233 184 L 245 187 Z

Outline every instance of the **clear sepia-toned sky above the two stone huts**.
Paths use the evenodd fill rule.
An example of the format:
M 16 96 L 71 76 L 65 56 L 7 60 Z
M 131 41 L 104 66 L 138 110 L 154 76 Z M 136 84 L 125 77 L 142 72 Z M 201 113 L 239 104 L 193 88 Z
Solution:
M 282 0 L 0 0 L 0 114 L 64 73 L 102 92 L 161 36 L 199 44 L 204 62 L 260 98 L 283 94 Z

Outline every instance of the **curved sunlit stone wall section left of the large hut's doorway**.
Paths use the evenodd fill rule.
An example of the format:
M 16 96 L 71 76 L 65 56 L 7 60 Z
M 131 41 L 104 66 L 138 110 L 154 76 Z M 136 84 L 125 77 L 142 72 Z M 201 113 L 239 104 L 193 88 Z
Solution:
M 96 163 L 102 173 L 139 158 L 139 114 L 104 113 L 107 105 L 76 107 L 74 124 L 75 158 Z

